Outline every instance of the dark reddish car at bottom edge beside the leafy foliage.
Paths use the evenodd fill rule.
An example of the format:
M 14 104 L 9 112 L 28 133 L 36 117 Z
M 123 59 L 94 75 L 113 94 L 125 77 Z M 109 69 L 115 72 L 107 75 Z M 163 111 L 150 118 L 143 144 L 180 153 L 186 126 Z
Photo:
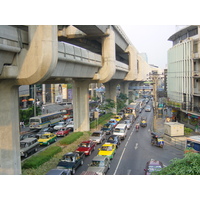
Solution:
M 147 162 L 146 168 L 144 169 L 145 175 L 150 175 L 152 172 L 160 171 L 162 170 L 162 168 L 163 168 L 162 162 L 151 159 L 150 161 Z

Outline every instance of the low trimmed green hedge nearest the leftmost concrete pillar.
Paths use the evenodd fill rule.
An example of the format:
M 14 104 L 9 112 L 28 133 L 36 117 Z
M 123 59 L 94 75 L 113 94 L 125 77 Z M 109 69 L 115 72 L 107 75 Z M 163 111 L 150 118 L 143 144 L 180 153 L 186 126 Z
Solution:
M 22 164 L 22 169 L 29 169 L 34 168 L 36 169 L 43 163 L 49 161 L 55 154 L 62 151 L 62 148 L 59 146 L 50 146 L 44 151 L 38 153 L 35 156 L 32 156 L 31 158 L 24 161 Z

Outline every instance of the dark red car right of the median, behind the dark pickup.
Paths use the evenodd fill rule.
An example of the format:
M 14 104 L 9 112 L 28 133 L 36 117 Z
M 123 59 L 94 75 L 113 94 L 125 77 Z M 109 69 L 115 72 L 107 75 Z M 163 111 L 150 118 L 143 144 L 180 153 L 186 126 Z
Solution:
M 95 150 L 96 143 L 91 140 L 83 141 L 78 145 L 76 152 L 84 152 L 85 155 L 91 155 L 92 151 Z

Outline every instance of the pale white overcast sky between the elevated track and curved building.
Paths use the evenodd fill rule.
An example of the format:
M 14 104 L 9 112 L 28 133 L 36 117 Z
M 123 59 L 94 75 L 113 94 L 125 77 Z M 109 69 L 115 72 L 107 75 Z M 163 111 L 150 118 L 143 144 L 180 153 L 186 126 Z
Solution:
M 120 25 L 129 40 L 140 52 L 145 52 L 148 63 L 166 68 L 167 51 L 172 47 L 168 38 L 178 29 L 175 25 Z

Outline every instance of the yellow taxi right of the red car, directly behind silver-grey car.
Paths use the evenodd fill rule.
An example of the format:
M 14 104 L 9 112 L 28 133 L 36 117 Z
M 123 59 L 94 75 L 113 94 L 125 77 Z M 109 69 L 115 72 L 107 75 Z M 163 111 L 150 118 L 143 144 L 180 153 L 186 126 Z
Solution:
M 99 153 L 98 155 L 100 156 L 107 156 L 110 159 L 113 159 L 113 156 L 116 151 L 116 144 L 111 144 L 111 143 L 105 143 L 99 148 Z

